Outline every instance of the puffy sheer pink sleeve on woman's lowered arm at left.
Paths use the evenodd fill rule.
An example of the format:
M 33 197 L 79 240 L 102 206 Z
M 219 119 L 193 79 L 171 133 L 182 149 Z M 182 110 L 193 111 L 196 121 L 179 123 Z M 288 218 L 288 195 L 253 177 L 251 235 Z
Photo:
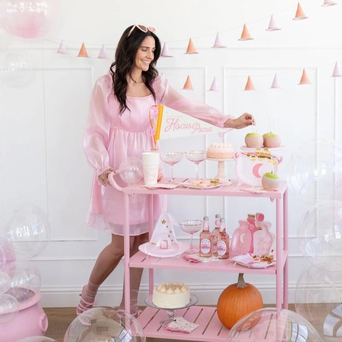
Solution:
M 91 91 L 88 120 L 83 136 L 83 151 L 97 175 L 101 175 L 110 167 L 106 149 L 111 126 L 107 100 L 110 93 L 110 75 L 100 77 Z

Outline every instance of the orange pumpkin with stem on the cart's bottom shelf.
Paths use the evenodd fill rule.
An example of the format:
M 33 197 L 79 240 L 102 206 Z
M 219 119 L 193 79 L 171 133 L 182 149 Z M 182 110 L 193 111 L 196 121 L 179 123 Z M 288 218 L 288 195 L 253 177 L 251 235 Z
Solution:
M 221 293 L 217 302 L 217 315 L 221 323 L 231 329 L 243 316 L 264 307 L 263 297 L 252 284 L 245 283 L 243 273 L 239 273 L 237 283 L 229 285 Z M 252 328 L 258 322 L 251 322 Z

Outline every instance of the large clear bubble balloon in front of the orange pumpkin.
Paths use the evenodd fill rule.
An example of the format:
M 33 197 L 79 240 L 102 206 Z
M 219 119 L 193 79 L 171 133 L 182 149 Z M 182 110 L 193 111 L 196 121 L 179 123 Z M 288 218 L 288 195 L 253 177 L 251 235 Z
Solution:
M 313 325 L 303 316 L 287 309 L 281 309 L 277 315 L 273 307 L 265 307 L 242 317 L 231 328 L 227 341 L 323 342 Z

